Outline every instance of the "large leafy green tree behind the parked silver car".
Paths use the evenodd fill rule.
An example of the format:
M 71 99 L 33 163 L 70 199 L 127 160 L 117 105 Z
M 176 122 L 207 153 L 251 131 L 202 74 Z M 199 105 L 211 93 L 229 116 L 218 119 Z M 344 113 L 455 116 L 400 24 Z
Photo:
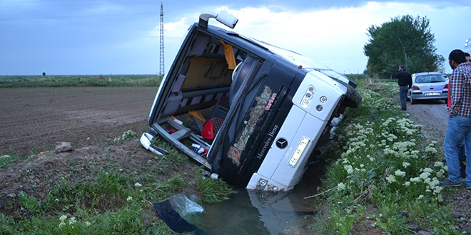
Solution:
M 437 55 L 427 17 L 396 16 L 381 26 L 370 26 L 368 43 L 363 47 L 368 56 L 366 74 L 393 77 L 397 67 L 405 65 L 410 73 L 444 71 L 445 58 Z

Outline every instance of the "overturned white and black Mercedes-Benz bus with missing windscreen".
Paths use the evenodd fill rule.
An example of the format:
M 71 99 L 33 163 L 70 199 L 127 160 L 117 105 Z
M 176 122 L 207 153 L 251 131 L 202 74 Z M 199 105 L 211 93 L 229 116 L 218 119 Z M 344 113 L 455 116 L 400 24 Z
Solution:
M 141 143 L 156 135 L 238 187 L 290 190 L 334 117 L 361 102 L 344 75 L 293 51 L 241 36 L 238 19 L 203 13 L 153 101 Z

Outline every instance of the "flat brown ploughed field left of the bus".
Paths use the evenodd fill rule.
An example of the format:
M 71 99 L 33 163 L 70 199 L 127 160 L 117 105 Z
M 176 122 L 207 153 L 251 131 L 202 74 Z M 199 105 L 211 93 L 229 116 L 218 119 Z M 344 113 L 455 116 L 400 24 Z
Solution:
M 0 155 L 76 147 L 148 130 L 156 87 L 0 88 Z

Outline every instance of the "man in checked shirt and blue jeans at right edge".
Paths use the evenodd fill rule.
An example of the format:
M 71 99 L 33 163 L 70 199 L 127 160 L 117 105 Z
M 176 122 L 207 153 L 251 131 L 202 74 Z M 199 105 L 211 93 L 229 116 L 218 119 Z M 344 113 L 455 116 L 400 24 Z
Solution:
M 471 66 L 466 63 L 465 53 L 453 50 L 448 56 L 453 72 L 450 76 L 450 107 L 448 107 L 448 127 L 443 142 L 445 160 L 448 166 L 448 179 L 440 182 L 443 187 L 461 185 L 460 155 L 458 147 L 465 141 L 467 158 L 467 189 L 471 189 Z

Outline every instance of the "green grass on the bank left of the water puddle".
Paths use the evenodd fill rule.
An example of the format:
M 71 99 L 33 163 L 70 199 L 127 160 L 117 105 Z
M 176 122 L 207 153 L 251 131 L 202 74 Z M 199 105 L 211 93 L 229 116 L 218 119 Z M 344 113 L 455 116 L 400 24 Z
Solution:
M 111 144 L 120 145 L 136 138 L 135 132 L 127 131 Z M 198 195 L 197 203 L 202 204 L 220 202 L 233 193 L 221 179 L 203 179 L 198 167 L 192 172 L 181 172 L 192 164 L 188 157 L 163 140 L 154 144 L 166 147 L 169 155 L 154 157 L 158 163 L 148 164 L 146 171 L 128 172 L 102 164 L 96 173 L 78 181 L 74 174 L 81 173 L 64 174 L 42 200 L 26 190 L 9 194 L 3 198 L 0 209 L 12 214 L 0 213 L 0 234 L 175 234 L 155 218 L 152 203 L 188 189 Z M 24 159 L 9 155 L 0 159 L 4 168 L 12 161 Z M 33 177 L 38 172 L 24 174 Z

